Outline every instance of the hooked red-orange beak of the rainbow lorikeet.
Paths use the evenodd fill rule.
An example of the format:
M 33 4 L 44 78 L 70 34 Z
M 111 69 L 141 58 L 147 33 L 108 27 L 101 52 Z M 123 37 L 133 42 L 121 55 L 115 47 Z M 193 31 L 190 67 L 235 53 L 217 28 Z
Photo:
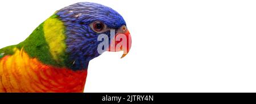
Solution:
M 125 57 L 131 49 L 131 35 L 126 26 L 122 26 L 121 29 L 115 34 L 115 38 L 110 41 L 109 49 L 110 52 L 123 51 L 123 57 Z

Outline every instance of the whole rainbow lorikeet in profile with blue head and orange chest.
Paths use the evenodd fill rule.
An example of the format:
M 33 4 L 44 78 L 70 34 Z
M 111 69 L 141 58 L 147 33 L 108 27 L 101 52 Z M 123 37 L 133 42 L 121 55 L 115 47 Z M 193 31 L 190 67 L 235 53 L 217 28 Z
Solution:
M 100 49 L 129 52 L 126 22 L 110 7 L 80 2 L 56 11 L 26 40 L 0 49 L 0 92 L 83 92 L 89 61 L 101 55 L 100 34 L 110 44 Z M 110 49 L 119 34 L 128 45 Z

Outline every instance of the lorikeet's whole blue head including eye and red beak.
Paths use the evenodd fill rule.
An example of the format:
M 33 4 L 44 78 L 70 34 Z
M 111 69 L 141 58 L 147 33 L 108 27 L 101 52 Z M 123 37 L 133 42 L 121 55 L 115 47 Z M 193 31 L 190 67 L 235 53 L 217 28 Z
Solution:
M 105 51 L 123 51 L 122 57 L 130 51 L 131 36 L 126 22 L 110 7 L 79 2 L 56 11 L 52 18 L 59 19 L 64 25 L 68 68 L 87 69 L 89 61 Z M 56 24 L 50 28 L 56 28 Z

